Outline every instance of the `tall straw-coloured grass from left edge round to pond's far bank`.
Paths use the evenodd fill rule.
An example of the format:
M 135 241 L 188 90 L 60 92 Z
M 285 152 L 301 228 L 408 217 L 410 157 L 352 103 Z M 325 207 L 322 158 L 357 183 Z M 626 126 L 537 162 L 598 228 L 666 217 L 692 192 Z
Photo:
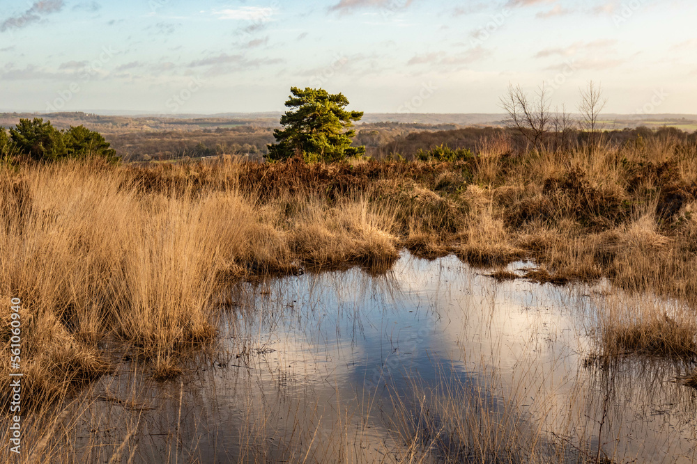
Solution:
M 397 258 L 394 214 L 360 195 L 262 204 L 240 191 L 243 168 L 232 162 L 208 169 L 206 188 L 161 182 L 187 169 L 155 168 L 149 182 L 96 163 L 0 174 L 0 294 L 24 302 L 26 401 L 63 397 L 104 374 L 107 346 L 151 361 L 157 378 L 177 374 L 183 353 L 215 336 L 214 296 L 230 279 L 298 263 L 384 268 Z M 1 381 L 8 374 L 0 367 Z

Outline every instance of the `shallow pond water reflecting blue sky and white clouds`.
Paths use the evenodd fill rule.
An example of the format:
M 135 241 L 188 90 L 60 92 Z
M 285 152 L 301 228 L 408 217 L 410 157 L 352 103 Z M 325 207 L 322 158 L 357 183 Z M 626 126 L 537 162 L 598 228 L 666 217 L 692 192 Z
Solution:
M 414 442 L 425 462 L 466 460 L 467 440 L 507 459 L 533 440 L 526 461 L 595 460 L 600 445 L 618 463 L 693 462 L 696 395 L 673 380 L 694 366 L 590 357 L 612 292 L 409 255 L 379 277 L 241 285 L 222 296 L 213 360 L 166 383 L 125 363 L 96 385 L 75 446 L 112 451 L 137 425 L 124 462 L 396 462 Z M 431 407 L 448 397 L 452 417 Z

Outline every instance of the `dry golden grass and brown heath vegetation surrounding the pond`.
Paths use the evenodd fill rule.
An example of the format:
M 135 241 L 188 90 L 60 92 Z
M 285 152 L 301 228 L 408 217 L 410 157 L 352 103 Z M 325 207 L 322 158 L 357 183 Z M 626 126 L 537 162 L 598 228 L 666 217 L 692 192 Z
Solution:
M 530 259 L 537 282 L 607 278 L 676 298 L 684 314 L 608 311 L 602 355 L 697 353 L 697 147 L 669 136 L 564 152 L 514 152 L 500 137 L 447 162 L 66 161 L 6 168 L 0 196 L 0 294 L 23 301 L 26 408 L 105 374 L 109 353 L 178 374 L 215 337 L 231 282 L 380 272 L 402 248 L 507 278 Z M 9 329 L 4 313 L 6 351 Z

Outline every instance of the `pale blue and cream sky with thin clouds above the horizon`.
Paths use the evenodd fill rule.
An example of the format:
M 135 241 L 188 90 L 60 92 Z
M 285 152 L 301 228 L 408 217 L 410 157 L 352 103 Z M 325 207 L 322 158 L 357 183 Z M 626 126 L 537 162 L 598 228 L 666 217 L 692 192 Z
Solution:
M 284 111 L 291 86 L 369 113 L 697 113 L 687 0 L 0 0 L 0 111 Z

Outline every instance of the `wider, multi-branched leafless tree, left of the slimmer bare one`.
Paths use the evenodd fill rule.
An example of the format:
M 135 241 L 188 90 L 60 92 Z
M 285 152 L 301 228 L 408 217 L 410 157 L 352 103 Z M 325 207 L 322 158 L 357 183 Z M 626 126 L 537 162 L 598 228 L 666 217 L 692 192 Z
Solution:
M 508 113 L 508 127 L 516 129 L 537 150 L 542 148 L 550 124 L 549 97 L 544 84 L 537 89 L 534 100 L 528 98 L 520 85 L 509 84 L 508 93 L 501 97 L 500 103 Z

